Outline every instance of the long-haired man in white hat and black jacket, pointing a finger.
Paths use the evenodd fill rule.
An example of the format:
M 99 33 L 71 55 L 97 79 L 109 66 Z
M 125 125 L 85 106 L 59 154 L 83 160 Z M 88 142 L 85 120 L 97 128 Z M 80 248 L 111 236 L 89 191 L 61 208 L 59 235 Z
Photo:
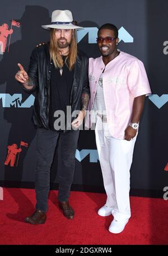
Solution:
M 59 207 L 68 219 L 74 216 L 68 198 L 74 175 L 78 128 L 85 116 L 90 97 L 88 59 L 85 54 L 77 51 L 76 29 L 81 27 L 74 25 L 71 11 L 53 11 L 52 24 L 42 27 L 50 30 L 50 42 L 32 51 L 28 72 L 18 63 L 20 71 L 15 76 L 25 91 L 36 90 L 32 113 L 32 122 L 37 128 L 36 210 L 25 219 L 30 224 L 44 224 L 46 220 L 50 166 L 58 138 L 62 158 L 59 172 Z M 70 114 L 68 108 L 71 108 Z M 70 117 L 68 122 L 74 111 L 78 115 Z M 67 115 L 64 125 L 58 125 L 57 113 Z

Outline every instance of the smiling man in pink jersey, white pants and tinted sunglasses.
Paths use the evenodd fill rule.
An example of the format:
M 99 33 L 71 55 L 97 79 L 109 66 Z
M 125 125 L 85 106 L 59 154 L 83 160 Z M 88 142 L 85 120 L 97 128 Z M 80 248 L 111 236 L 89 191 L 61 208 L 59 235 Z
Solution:
M 101 57 L 90 58 L 90 103 L 85 125 L 96 123 L 96 145 L 107 194 L 98 214 L 113 215 L 109 231 L 124 230 L 131 214 L 130 166 L 145 97 L 151 93 L 141 60 L 117 50 L 118 29 L 104 24 L 98 31 Z

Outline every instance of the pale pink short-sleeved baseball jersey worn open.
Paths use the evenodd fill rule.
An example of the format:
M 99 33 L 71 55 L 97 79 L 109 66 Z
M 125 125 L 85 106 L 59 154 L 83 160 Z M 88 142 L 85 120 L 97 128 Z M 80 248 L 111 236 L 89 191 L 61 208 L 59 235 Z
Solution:
M 105 68 L 105 70 L 104 70 Z M 89 59 L 90 102 L 92 110 L 97 90 L 97 83 L 102 71 L 102 83 L 108 126 L 111 136 L 124 138 L 124 131 L 130 123 L 134 98 L 151 94 L 146 70 L 141 60 L 120 52 L 106 67 L 102 57 Z M 89 127 L 90 115 L 86 116 L 86 127 Z

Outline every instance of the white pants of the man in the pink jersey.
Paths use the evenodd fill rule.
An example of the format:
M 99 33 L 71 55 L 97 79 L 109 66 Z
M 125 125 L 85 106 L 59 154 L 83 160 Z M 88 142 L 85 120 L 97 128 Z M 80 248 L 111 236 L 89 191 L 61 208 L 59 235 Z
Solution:
M 101 129 L 102 128 L 102 129 Z M 130 218 L 130 166 L 136 137 L 130 141 L 111 136 L 108 123 L 96 120 L 96 145 L 104 187 L 107 194 L 105 205 L 113 207 L 112 214 L 118 220 Z

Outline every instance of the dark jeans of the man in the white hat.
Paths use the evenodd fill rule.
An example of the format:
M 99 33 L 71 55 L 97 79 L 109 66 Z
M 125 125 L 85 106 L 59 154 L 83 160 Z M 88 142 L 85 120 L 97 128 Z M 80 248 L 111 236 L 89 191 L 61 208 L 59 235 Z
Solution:
M 37 129 L 38 160 L 35 173 L 36 210 L 48 210 L 48 194 L 50 189 L 50 167 L 53 162 L 55 147 L 60 136 L 61 170 L 58 176 L 58 200 L 67 201 L 74 176 L 75 153 L 80 131 L 57 131 Z

